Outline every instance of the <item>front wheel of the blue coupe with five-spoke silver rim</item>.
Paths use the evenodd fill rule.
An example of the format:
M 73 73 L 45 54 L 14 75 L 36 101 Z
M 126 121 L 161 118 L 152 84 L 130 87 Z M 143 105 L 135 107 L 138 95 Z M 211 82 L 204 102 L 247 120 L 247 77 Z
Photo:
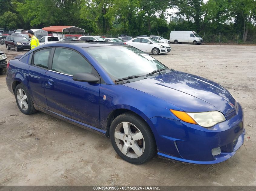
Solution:
M 145 163 L 157 153 L 151 129 L 134 113 L 127 112 L 117 116 L 111 123 L 109 132 L 113 148 L 129 163 Z

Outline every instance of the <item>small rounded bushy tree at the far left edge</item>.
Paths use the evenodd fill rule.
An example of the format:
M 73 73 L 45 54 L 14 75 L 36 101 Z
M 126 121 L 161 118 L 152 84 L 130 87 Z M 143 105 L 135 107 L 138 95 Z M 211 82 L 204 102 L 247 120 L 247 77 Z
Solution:
M 0 25 L 8 29 L 15 29 L 18 24 L 17 14 L 11 11 L 6 11 L 2 16 L 0 16 Z

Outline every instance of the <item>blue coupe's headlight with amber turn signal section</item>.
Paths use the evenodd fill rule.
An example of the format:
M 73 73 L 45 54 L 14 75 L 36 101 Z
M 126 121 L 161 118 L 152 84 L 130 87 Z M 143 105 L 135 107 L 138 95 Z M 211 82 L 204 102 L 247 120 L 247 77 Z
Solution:
M 208 111 L 208 112 L 184 112 L 177 110 L 170 110 L 176 117 L 187 123 L 198 124 L 202 127 L 211 127 L 225 121 L 225 116 L 219 111 Z

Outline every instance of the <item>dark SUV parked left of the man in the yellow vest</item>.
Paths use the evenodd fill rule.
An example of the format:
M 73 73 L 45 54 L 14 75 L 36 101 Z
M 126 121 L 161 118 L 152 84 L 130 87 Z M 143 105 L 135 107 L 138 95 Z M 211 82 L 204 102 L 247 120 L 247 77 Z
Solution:
M 22 36 L 8 36 L 5 39 L 5 46 L 7 50 L 14 48 L 16 51 L 29 49 L 30 50 L 30 42 L 27 38 Z

